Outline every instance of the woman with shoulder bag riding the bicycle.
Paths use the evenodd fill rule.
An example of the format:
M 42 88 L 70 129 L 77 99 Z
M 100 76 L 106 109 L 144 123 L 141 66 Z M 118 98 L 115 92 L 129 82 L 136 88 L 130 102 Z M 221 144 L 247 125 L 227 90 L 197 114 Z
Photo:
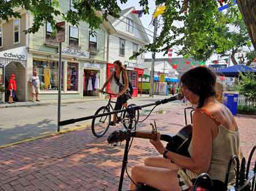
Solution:
M 108 85 L 108 82 L 110 82 L 111 92 L 115 93 L 117 96 L 117 102 L 115 103 L 114 110 L 121 110 L 122 106 L 127 108 L 127 100 L 129 99 L 129 96 L 127 97 L 125 93 L 129 88 L 129 82 L 127 70 L 125 67 L 123 67 L 121 61 L 114 61 L 114 71 L 110 73 L 110 76 L 101 88 L 101 92 L 104 91 L 105 87 Z M 109 125 L 115 126 L 116 122 L 117 115 L 114 114 L 113 121 L 111 121 Z

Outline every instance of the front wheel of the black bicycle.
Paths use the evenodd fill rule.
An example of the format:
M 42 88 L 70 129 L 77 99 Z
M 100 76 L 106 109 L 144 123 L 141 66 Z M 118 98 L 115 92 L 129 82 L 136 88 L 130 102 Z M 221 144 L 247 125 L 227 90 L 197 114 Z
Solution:
M 109 112 L 109 107 L 100 107 L 94 115 L 104 114 Z M 92 120 L 92 133 L 96 137 L 103 136 L 108 131 L 111 115 L 94 118 Z

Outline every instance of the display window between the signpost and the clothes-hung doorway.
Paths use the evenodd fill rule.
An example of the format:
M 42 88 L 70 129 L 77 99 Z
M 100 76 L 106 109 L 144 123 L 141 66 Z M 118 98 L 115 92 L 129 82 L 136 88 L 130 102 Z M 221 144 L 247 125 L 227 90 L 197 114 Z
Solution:
M 68 63 L 67 90 L 78 91 L 78 63 Z

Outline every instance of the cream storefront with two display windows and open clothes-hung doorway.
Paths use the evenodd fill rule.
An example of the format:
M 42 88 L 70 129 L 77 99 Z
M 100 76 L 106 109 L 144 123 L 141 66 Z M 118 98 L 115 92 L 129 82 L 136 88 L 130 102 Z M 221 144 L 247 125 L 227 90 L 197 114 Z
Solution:
M 74 55 L 75 54 L 75 55 Z M 57 99 L 59 84 L 58 55 L 43 56 L 32 53 L 32 68 L 38 72 L 40 99 Z M 87 96 L 99 97 L 101 78 L 106 78 L 106 64 L 89 61 L 86 51 L 63 51 L 61 70 L 61 99 L 82 99 Z

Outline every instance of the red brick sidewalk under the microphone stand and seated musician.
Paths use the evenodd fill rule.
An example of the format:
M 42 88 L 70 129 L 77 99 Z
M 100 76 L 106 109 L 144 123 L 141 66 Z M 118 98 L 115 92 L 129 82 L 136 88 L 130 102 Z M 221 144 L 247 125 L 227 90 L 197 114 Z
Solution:
M 184 126 L 184 106 L 170 106 L 165 114 L 152 114 L 138 129 L 148 130 L 156 120 L 160 132 L 177 132 Z M 143 118 L 143 117 L 142 117 Z M 256 144 L 256 118 L 237 115 L 242 150 L 247 157 Z M 112 127 L 110 132 L 117 129 Z M 73 131 L 0 150 L 0 190 L 118 190 L 122 147 L 110 148 L 90 130 Z M 129 153 L 128 171 L 146 156 L 157 155 L 148 140 L 134 139 Z M 123 190 L 129 185 L 125 177 Z

